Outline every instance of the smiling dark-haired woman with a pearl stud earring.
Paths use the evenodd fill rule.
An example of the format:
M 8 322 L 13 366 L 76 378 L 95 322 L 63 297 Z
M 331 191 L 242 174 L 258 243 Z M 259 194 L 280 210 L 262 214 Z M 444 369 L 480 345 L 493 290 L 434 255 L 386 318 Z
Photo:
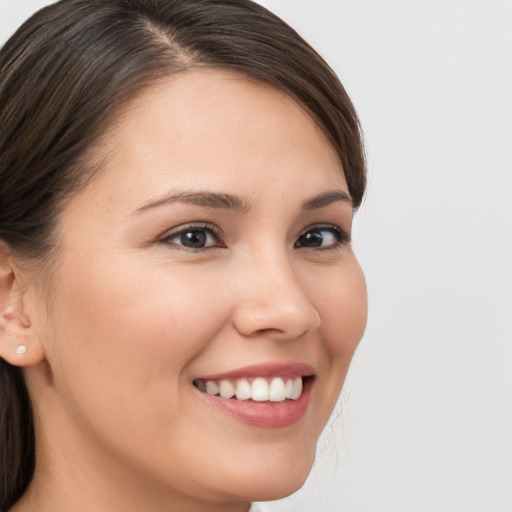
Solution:
M 325 62 L 240 0 L 63 0 L 0 53 L 2 510 L 297 490 L 366 322 Z

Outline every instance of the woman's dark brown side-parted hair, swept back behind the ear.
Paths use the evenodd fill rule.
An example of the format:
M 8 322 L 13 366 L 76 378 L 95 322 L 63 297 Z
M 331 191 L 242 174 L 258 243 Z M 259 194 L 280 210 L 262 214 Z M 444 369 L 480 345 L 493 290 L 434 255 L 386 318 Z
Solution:
M 356 113 L 336 75 L 250 0 L 61 0 L 0 50 L 0 242 L 27 261 L 57 246 L 59 209 L 93 176 L 88 152 L 120 106 L 191 67 L 233 70 L 294 97 L 337 150 L 355 207 L 365 188 Z M 30 400 L 0 359 L 0 509 L 34 470 Z

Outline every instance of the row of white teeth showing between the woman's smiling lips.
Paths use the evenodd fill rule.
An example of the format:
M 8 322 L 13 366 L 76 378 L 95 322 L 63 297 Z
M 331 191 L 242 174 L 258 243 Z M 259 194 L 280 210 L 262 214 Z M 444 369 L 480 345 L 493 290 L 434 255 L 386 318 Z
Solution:
M 238 379 L 194 380 L 194 386 L 211 396 L 226 400 L 252 402 L 285 402 L 298 400 L 309 377 L 247 377 Z

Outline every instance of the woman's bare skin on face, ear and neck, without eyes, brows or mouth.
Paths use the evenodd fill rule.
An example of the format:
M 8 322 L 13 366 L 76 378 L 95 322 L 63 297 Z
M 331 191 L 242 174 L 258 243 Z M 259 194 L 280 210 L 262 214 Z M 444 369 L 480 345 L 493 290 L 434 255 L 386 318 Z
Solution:
M 35 478 L 12 510 L 238 512 L 290 494 L 366 323 L 350 243 L 324 227 L 321 247 L 296 246 L 319 224 L 350 234 L 349 202 L 303 208 L 348 195 L 335 150 L 283 92 L 192 70 L 141 93 L 99 151 L 61 215 L 51 286 L 12 259 L 2 278 L 1 355 L 25 366 L 38 417 Z M 205 191 L 244 208 L 145 208 Z M 222 240 L 203 250 L 175 234 L 205 222 Z M 241 423 L 192 385 L 267 362 L 315 369 L 306 415 L 285 428 Z

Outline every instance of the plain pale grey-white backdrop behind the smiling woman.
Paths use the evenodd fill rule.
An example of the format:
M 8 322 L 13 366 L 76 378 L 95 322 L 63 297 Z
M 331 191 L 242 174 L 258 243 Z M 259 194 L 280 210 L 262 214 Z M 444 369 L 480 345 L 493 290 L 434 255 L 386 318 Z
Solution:
M 0 43 L 48 3 L 0 0 Z M 512 512 L 512 2 L 261 3 L 360 114 L 370 300 L 310 479 L 264 510 Z

